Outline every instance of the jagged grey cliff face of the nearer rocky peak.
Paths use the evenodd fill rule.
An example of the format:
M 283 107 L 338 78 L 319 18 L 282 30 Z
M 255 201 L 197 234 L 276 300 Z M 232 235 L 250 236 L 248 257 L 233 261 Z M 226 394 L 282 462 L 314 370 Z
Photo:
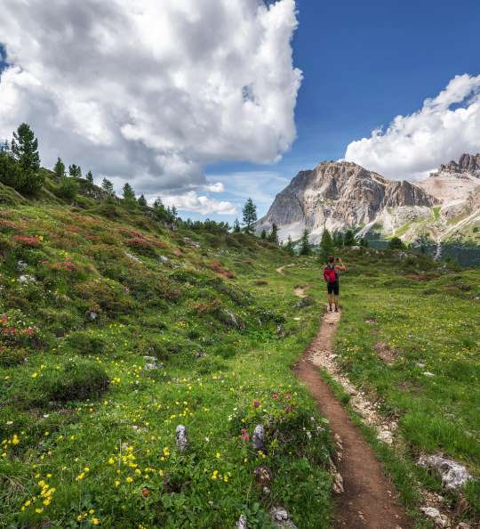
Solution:
M 311 171 L 301 171 L 276 195 L 257 230 L 279 226 L 279 235 L 298 239 L 305 228 L 310 240 L 320 239 L 324 227 L 331 231 L 372 224 L 385 210 L 431 208 L 438 203 L 420 187 L 392 182 L 352 162 L 323 162 Z

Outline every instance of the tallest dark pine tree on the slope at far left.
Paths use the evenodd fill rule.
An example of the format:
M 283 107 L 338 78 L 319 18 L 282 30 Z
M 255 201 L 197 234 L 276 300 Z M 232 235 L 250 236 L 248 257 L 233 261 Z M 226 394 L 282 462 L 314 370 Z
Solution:
M 39 191 L 44 184 L 44 175 L 40 174 L 38 140 L 27 123 L 22 123 L 13 133 L 12 157 L 20 167 L 15 189 L 27 193 Z

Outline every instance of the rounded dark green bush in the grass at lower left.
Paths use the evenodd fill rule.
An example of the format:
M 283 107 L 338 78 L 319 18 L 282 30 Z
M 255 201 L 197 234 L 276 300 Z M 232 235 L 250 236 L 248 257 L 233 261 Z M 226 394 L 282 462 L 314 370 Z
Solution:
M 97 362 L 72 358 L 60 370 L 44 372 L 34 400 L 37 403 L 84 401 L 104 393 L 109 382 L 107 371 Z

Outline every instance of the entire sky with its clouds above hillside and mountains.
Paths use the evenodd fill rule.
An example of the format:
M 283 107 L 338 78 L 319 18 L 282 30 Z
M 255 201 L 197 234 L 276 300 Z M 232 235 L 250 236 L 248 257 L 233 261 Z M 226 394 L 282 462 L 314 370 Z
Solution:
M 477 0 L 0 4 L 0 139 L 28 121 L 45 165 L 181 216 L 263 215 L 324 159 L 415 180 L 480 151 Z

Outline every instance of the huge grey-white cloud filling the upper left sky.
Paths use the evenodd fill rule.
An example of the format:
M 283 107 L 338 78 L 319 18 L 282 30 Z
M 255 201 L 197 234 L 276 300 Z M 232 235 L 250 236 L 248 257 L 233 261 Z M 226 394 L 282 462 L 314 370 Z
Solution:
M 212 162 L 276 160 L 296 134 L 295 9 L 3 0 L 0 138 L 27 121 L 45 165 L 60 155 L 148 194 L 201 189 Z

